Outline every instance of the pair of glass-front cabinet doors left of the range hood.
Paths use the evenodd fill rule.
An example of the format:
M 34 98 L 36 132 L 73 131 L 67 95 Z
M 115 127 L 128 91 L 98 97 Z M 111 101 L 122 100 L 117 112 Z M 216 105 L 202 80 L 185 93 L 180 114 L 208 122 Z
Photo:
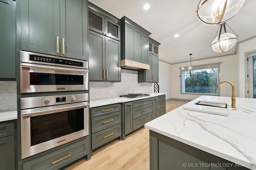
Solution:
M 120 24 L 116 21 L 110 20 L 104 15 L 96 12 L 94 8 L 90 8 L 90 6 L 88 18 L 90 30 L 120 41 Z

